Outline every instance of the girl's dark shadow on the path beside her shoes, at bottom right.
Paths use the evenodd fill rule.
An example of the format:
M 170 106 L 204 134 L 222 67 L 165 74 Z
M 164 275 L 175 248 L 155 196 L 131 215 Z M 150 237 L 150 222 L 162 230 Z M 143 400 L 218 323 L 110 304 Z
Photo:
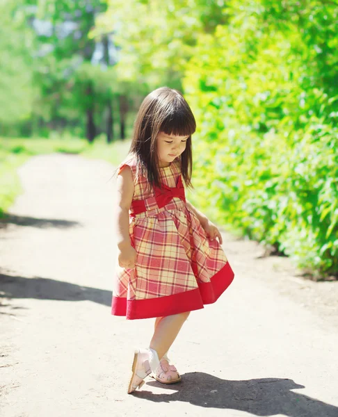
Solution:
M 182 375 L 182 382 L 166 385 L 150 380 L 147 385 L 171 389 L 172 394 L 154 394 L 145 386 L 134 393 L 139 398 L 154 402 L 184 401 L 200 407 L 247 411 L 255 416 L 282 414 L 290 417 L 337 417 L 338 407 L 294 393 L 305 388 L 292 379 L 261 378 L 245 381 L 220 379 L 207 373 Z

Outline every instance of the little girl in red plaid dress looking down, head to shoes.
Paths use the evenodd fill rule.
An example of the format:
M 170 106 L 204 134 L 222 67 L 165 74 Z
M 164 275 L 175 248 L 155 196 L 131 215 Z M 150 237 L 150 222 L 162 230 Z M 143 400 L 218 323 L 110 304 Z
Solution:
M 129 154 L 118 166 L 111 313 L 156 318 L 150 347 L 135 351 L 128 393 L 150 373 L 163 384 L 181 380 L 169 365 L 170 346 L 190 311 L 216 302 L 234 278 L 220 231 L 185 198 L 183 180 L 193 188 L 195 128 L 181 93 L 158 88 L 143 100 Z

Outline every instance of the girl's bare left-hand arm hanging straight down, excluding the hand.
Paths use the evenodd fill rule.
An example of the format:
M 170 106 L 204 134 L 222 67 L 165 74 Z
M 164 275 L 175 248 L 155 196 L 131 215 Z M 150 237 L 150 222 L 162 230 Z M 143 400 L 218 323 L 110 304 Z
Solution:
M 134 179 L 131 169 L 125 165 L 118 174 L 117 185 L 117 243 L 118 248 L 124 248 L 131 245 L 129 236 L 129 208 L 134 195 Z

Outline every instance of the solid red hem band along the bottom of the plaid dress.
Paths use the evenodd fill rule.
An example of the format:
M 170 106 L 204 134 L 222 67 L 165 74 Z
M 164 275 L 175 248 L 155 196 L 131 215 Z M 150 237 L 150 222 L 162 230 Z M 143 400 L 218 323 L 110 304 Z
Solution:
M 199 282 L 195 290 L 184 291 L 166 297 L 148 298 L 147 300 L 128 300 L 126 297 L 115 297 L 111 303 L 113 316 L 126 316 L 128 320 L 138 318 L 155 318 L 172 316 L 203 309 L 204 304 L 212 304 L 227 289 L 234 279 L 234 272 L 227 262 L 210 282 Z

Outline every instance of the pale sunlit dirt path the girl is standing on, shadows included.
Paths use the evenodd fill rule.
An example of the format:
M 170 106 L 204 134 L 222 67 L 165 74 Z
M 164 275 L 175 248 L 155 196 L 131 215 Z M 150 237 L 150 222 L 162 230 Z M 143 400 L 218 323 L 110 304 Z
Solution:
M 153 320 L 110 315 L 112 172 L 65 154 L 19 170 L 24 194 L 0 227 L 1 416 L 337 417 L 338 283 L 228 234 L 234 282 L 170 352 L 182 383 L 126 394 Z

